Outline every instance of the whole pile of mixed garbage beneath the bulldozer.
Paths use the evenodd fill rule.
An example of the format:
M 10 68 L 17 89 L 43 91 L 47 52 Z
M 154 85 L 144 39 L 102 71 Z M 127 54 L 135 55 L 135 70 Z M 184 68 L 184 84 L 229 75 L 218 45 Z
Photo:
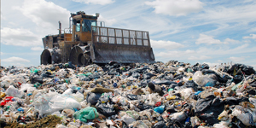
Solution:
M 256 73 L 244 64 L 112 61 L 1 70 L 0 127 L 256 126 Z

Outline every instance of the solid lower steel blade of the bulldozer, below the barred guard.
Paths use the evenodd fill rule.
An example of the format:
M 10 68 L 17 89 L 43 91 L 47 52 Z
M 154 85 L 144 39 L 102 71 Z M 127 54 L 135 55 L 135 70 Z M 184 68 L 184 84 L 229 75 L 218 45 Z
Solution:
M 151 47 L 126 44 L 93 43 L 90 47 L 91 60 L 95 63 L 119 63 L 146 62 L 154 63 L 154 54 Z

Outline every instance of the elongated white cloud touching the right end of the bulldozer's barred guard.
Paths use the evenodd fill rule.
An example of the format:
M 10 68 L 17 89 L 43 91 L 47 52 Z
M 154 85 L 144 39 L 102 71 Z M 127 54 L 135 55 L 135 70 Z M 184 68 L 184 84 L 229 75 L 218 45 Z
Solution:
M 183 44 L 179 44 L 172 41 L 164 41 L 164 40 L 150 40 L 151 47 L 154 49 L 178 49 L 183 48 Z

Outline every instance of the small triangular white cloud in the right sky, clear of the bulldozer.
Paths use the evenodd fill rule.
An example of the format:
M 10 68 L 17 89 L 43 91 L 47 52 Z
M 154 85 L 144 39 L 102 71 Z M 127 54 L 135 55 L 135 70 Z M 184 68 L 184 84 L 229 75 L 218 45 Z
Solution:
M 195 44 L 223 44 L 220 40 L 214 39 L 211 36 L 200 34 L 200 37 L 196 40 Z

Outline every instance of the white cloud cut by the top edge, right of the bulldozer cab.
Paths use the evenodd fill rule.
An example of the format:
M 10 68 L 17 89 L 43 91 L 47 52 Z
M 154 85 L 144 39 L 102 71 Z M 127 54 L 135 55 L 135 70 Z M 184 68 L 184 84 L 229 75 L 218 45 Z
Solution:
M 145 3 L 152 6 L 156 14 L 177 16 L 199 12 L 204 5 L 199 0 L 154 0 Z

